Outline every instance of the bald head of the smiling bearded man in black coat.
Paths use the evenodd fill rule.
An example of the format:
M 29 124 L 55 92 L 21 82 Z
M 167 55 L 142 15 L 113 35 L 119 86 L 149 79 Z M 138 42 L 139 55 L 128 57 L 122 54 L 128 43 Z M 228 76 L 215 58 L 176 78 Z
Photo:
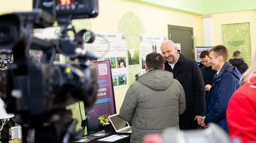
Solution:
M 177 47 L 172 40 L 165 40 L 161 44 L 161 52 L 166 61 L 174 64 L 178 60 Z

